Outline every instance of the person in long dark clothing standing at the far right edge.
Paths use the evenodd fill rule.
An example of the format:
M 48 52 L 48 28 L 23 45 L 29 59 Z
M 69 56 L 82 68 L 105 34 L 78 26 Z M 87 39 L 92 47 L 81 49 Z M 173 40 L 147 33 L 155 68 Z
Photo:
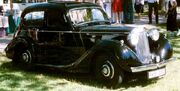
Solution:
M 167 13 L 167 31 L 178 31 L 177 28 L 177 2 L 176 0 L 169 0 L 168 3 L 168 13 Z

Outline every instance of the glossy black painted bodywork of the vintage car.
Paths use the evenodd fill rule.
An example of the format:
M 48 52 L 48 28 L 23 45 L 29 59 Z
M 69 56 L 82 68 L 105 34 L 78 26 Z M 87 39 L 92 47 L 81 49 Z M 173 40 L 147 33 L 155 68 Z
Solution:
M 134 46 L 127 40 L 128 34 L 135 27 L 111 25 L 109 21 L 72 24 L 68 11 L 82 7 L 101 9 L 92 3 L 79 2 L 37 4 L 26 8 L 21 16 L 18 35 L 5 49 L 7 57 L 12 59 L 17 48 L 31 49 L 34 57 L 32 64 L 56 67 L 70 72 L 91 71 L 95 61 L 98 61 L 95 60 L 96 56 L 101 53 L 113 54 L 119 67 L 127 72 L 131 72 L 130 67 L 143 65 L 135 53 Z M 48 18 L 53 17 L 48 16 L 53 13 L 51 10 L 63 14 L 62 25 L 48 25 Z M 24 19 L 26 14 L 33 11 L 45 12 L 43 22 L 36 20 L 29 23 Z M 163 35 L 156 42 L 150 38 L 149 41 L 152 53 L 161 55 L 163 60 L 172 57 L 172 46 Z M 162 50 L 165 52 L 162 53 Z

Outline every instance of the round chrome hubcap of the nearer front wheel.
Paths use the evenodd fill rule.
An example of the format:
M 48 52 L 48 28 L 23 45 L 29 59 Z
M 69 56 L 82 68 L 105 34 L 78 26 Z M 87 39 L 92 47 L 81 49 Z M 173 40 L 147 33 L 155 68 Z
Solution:
M 111 62 L 106 61 L 102 66 L 101 73 L 104 77 L 112 79 L 114 77 L 114 67 Z

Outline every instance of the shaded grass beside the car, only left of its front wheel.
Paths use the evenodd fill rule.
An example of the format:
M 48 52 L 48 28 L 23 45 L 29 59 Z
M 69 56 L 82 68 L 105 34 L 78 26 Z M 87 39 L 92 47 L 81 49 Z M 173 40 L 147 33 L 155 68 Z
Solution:
M 42 79 L 40 79 L 41 77 L 39 78 L 39 76 L 43 76 Z M 34 66 L 34 68 L 30 69 L 25 67 L 25 65 L 14 65 L 11 61 L 5 62 L 0 66 L 0 81 L 6 81 L 7 79 L 11 82 L 11 84 L 9 84 L 8 86 L 10 88 L 21 87 L 20 83 L 27 81 L 27 83 L 31 84 L 28 85 L 26 89 L 33 88 L 34 90 L 37 88 L 37 91 L 47 91 L 51 89 L 51 87 L 47 85 L 46 80 L 56 79 L 66 80 L 64 82 L 60 81 L 60 83 L 57 84 L 60 86 L 68 85 L 69 82 L 77 82 L 89 86 L 98 85 L 93 79 L 91 79 L 91 76 L 89 74 L 68 73 L 54 68 L 39 66 Z M 38 89 L 39 87 L 41 87 L 42 89 Z

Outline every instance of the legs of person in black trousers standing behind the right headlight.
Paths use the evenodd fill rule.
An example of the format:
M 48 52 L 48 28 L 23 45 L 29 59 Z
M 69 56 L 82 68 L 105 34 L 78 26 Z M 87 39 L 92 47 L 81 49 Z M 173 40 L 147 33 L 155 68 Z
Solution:
M 156 16 L 156 24 L 159 23 L 159 18 L 158 18 L 158 3 L 159 0 L 148 0 L 148 6 L 149 6 L 149 24 L 152 24 L 152 13 L 154 10 L 155 16 Z

